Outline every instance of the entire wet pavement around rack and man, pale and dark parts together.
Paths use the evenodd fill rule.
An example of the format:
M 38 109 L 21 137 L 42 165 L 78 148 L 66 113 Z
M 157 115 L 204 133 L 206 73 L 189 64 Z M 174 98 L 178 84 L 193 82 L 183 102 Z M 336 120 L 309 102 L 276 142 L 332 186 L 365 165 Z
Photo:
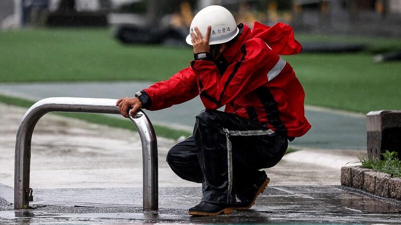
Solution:
M 178 178 L 165 154 L 175 140 L 158 137 L 159 210 L 142 210 L 137 133 L 47 114 L 32 139 L 32 208 L 13 210 L 16 132 L 25 108 L 0 104 L 0 223 L 393 223 L 401 203 L 340 186 L 340 167 L 365 150 L 307 149 L 266 169 L 271 182 L 252 209 L 189 216 L 199 184 Z

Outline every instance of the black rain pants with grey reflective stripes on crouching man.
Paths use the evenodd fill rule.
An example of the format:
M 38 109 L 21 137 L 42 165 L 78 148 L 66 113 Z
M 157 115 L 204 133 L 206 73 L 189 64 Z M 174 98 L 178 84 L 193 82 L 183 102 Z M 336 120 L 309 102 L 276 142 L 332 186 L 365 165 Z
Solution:
M 202 201 L 233 204 L 277 164 L 288 140 L 234 113 L 206 109 L 196 116 L 193 135 L 175 144 L 166 161 L 182 179 L 202 183 Z

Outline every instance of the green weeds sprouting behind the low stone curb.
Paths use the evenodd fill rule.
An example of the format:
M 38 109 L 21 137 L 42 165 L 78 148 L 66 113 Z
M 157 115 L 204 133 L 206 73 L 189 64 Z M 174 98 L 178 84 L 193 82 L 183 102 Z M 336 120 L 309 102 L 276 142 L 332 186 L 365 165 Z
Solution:
M 383 159 L 365 159 L 359 158 L 361 167 L 369 168 L 380 172 L 390 174 L 391 177 L 401 177 L 401 161 L 398 158 L 396 151 L 386 150 L 381 153 Z

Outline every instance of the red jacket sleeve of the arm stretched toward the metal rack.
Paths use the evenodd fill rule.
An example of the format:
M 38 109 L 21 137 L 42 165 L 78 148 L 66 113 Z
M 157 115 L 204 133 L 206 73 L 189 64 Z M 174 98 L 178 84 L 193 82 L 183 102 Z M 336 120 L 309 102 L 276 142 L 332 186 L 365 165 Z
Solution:
M 157 82 L 143 89 L 151 99 L 145 108 L 159 110 L 188 101 L 198 95 L 195 76 L 190 67 L 182 69 L 168 80 Z

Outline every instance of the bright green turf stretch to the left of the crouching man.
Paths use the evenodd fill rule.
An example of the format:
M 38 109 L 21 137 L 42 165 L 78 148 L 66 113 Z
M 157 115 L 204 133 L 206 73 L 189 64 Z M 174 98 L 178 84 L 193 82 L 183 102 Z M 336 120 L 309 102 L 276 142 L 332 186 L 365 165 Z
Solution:
M 107 29 L 0 32 L 1 82 L 168 79 L 189 66 L 189 48 L 124 45 Z

